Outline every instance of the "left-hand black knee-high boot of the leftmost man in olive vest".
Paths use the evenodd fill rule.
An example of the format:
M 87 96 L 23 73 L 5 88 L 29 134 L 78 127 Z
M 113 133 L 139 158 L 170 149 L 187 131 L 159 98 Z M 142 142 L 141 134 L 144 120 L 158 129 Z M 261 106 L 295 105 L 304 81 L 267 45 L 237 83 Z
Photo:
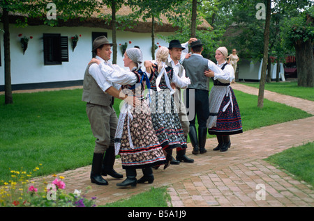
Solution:
M 91 163 L 91 183 L 97 185 L 108 185 L 108 182 L 101 177 L 101 167 L 103 164 L 103 154 L 94 153 L 93 162 Z

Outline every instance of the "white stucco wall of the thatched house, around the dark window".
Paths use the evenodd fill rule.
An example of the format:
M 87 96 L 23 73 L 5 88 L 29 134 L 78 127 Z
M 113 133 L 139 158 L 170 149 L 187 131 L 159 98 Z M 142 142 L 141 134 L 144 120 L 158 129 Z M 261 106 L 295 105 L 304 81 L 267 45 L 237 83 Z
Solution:
M 0 26 L 2 28 L 2 24 Z M 14 24 L 10 25 L 10 59 L 11 59 L 11 83 L 44 83 L 56 81 L 77 81 L 82 80 L 84 71 L 91 60 L 91 33 L 107 32 L 107 38 L 112 42 L 112 31 L 103 28 L 87 27 L 55 27 L 49 26 L 28 26 L 26 28 L 17 28 Z M 29 40 L 27 51 L 22 53 L 20 37 L 33 36 Z M 68 56 L 69 62 L 63 62 L 61 65 L 44 65 L 43 57 L 43 33 L 60 33 L 61 36 L 68 36 Z M 73 35 L 82 35 L 77 42 L 77 47 L 72 51 L 70 38 Z M 161 35 L 170 35 L 171 33 L 158 33 Z M 0 67 L 0 85 L 4 85 L 4 51 L 3 51 L 3 32 L 0 34 L 1 44 L 1 67 Z M 126 31 L 117 31 L 117 64 L 124 67 L 123 56 L 119 44 L 124 42 L 132 43 L 128 48 L 139 46 L 142 50 L 144 60 L 151 59 L 151 33 L 133 33 Z M 156 38 L 156 42 L 168 46 L 168 43 Z

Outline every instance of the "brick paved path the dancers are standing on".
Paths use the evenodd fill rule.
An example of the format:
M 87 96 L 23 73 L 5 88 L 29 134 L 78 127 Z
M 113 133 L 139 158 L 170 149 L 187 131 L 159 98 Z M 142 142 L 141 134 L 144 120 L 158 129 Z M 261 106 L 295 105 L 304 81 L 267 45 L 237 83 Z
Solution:
M 232 84 L 235 90 L 257 95 L 257 89 Z M 274 92 L 265 91 L 265 99 L 305 108 L 314 114 L 314 102 L 297 99 Z M 305 105 L 304 105 L 305 104 Z M 174 207 L 208 206 L 314 206 L 314 191 L 303 181 L 297 181 L 293 175 L 278 170 L 264 158 L 313 141 L 314 117 L 294 120 L 283 124 L 265 126 L 231 136 L 232 147 L 227 152 L 211 151 L 216 147 L 216 138 L 207 140 L 207 153 L 193 155 L 188 145 L 187 155 L 195 163 L 171 165 L 167 170 L 161 167 L 154 170 L 153 184 L 137 184 L 136 188 L 117 188 L 116 183 L 124 179 L 107 177 L 108 186 L 97 186 L 90 182 L 91 167 L 63 172 L 66 177 L 68 193 L 75 189 L 84 190 L 91 186 L 88 197 L 97 197 L 98 204 L 115 202 L 149 190 L 152 186 L 167 186 Z M 114 168 L 125 174 L 121 162 L 116 161 Z M 124 175 L 125 177 L 125 175 Z M 137 177 L 142 171 L 137 170 Z M 262 189 L 265 188 L 265 195 Z M 261 199 L 264 196 L 264 199 Z M 260 200 L 257 200 L 260 199 Z

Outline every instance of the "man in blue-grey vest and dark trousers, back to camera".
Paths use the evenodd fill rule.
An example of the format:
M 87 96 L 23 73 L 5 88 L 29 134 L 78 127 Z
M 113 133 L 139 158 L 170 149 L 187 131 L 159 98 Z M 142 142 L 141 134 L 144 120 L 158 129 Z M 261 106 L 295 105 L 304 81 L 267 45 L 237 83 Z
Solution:
M 203 45 L 201 40 L 195 40 L 190 43 L 192 55 L 184 59 L 182 65 L 186 70 L 186 76 L 190 78 L 190 85 L 184 91 L 186 92 L 186 108 L 189 112 L 190 121 L 190 142 L 193 145 L 193 154 L 204 154 L 207 139 L 207 118 L 209 117 L 209 77 L 204 76 L 205 70 L 211 69 L 215 73 L 223 71 L 211 60 L 203 58 Z M 194 96 L 193 96 L 194 95 Z M 190 114 L 193 113 L 192 117 Z M 195 127 L 195 116 L 198 122 L 198 138 Z

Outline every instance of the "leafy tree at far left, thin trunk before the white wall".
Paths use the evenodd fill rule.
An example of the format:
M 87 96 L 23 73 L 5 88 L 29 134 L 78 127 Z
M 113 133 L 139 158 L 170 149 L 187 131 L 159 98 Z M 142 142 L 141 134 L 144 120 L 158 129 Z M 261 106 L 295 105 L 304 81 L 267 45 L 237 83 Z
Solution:
M 57 10 L 56 19 L 47 19 L 47 4 L 53 3 Z M 43 24 L 56 26 L 59 20 L 66 21 L 68 19 L 81 17 L 84 19 L 90 17 L 94 12 L 97 3 L 94 0 L 60 0 L 60 1 L 45 1 L 45 0 L 1 0 L 0 7 L 2 9 L 3 22 L 3 48 L 4 48 L 4 75 L 5 75 L 5 104 L 13 104 L 12 86 L 11 86 L 11 71 L 10 71 L 10 29 L 9 29 L 9 13 L 19 13 L 24 16 L 22 19 L 17 19 L 16 23 L 20 26 L 27 26 L 28 20 L 32 18 L 41 19 Z

